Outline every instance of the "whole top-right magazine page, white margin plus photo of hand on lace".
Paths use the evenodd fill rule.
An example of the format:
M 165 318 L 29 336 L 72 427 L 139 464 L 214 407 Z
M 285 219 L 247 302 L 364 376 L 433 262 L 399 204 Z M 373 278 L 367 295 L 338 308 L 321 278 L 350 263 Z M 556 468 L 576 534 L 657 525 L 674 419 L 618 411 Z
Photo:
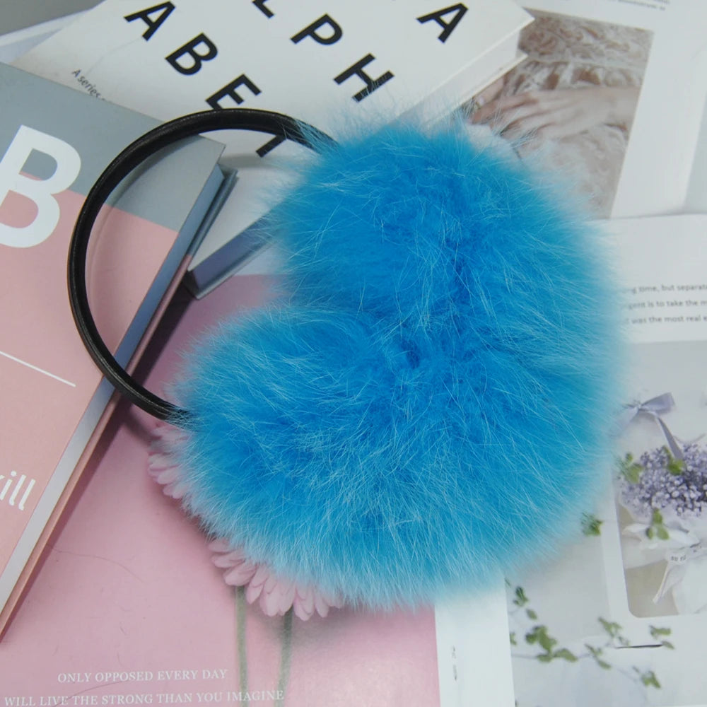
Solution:
M 535 0 L 528 56 L 477 95 L 469 119 L 520 141 L 597 218 L 677 211 L 707 86 L 707 4 Z

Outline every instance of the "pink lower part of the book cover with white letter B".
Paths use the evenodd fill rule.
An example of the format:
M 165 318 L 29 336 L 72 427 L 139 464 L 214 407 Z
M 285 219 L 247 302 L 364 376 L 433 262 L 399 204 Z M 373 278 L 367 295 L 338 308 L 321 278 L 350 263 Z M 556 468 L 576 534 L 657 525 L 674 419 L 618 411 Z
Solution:
M 63 265 L 85 197 L 65 191 L 56 198 L 61 216 L 49 238 L 33 247 L 0 245 L 0 474 L 25 477 L 15 498 L 13 486 L 0 498 L 0 571 L 101 380 L 74 327 Z M 31 223 L 35 212 L 32 201 L 11 192 L 0 204 L 0 222 Z M 112 350 L 176 237 L 174 230 L 119 209 L 106 207 L 101 214 L 88 289 Z M 5 483 L 0 479 L 0 496 Z

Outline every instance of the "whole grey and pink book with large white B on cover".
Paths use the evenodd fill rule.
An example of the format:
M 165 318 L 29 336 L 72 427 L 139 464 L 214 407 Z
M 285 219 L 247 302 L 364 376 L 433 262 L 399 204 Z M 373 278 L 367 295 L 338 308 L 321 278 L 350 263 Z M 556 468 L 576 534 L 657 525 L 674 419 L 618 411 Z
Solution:
M 1 630 L 111 395 L 71 317 L 71 230 L 105 165 L 155 121 L 1 64 L 0 98 Z M 100 214 L 88 293 L 123 363 L 223 181 L 221 149 L 180 146 L 136 170 Z

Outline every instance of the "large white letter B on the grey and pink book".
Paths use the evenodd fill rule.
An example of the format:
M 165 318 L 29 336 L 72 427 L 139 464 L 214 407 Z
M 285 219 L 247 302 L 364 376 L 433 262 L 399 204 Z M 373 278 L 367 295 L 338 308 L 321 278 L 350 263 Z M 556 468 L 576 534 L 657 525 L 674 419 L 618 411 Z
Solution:
M 45 153 L 57 163 L 51 177 L 37 180 L 22 174 L 22 169 L 33 150 Z M 0 245 L 28 248 L 49 238 L 59 223 L 59 204 L 57 199 L 54 199 L 54 194 L 71 187 L 79 170 L 81 158 L 71 145 L 21 125 L 0 160 L 0 204 L 8 192 L 16 192 L 35 202 L 37 216 L 28 226 L 21 228 L 0 223 Z

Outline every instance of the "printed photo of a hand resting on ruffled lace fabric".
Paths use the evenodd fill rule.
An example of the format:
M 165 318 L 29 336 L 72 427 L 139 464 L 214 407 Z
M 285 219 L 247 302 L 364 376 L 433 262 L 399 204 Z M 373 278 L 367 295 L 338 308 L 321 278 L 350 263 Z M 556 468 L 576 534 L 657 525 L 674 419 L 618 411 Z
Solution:
M 468 103 L 469 129 L 491 129 L 521 158 L 562 170 L 592 216 L 609 216 L 653 33 L 528 8 L 527 58 Z

